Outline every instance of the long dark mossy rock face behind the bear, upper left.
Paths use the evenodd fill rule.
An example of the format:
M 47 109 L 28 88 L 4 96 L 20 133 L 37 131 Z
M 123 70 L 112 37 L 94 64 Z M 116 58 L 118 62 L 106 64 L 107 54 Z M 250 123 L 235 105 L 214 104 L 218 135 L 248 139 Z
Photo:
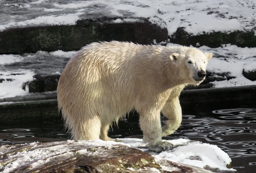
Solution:
M 167 29 L 152 24 L 146 18 L 114 23 L 116 19 L 86 19 L 78 20 L 75 25 L 7 29 L 0 32 L 0 53 L 79 50 L 96 41 L 132 41 L 140 44 L 167 41 Z

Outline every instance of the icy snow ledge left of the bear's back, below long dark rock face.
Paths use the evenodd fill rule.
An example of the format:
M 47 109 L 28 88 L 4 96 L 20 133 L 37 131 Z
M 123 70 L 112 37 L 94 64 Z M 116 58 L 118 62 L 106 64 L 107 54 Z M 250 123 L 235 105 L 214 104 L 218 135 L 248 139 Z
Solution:
M 0 55 L 0 99 L 28 94 L 22 84 L 33 80 L 35 74 L 60 74 L 76 51 L 44 52 L 24 55 Z M 18 74 L 18 75 L 15 75 Z M 8 80 L 7 80 L 8 79 Z

